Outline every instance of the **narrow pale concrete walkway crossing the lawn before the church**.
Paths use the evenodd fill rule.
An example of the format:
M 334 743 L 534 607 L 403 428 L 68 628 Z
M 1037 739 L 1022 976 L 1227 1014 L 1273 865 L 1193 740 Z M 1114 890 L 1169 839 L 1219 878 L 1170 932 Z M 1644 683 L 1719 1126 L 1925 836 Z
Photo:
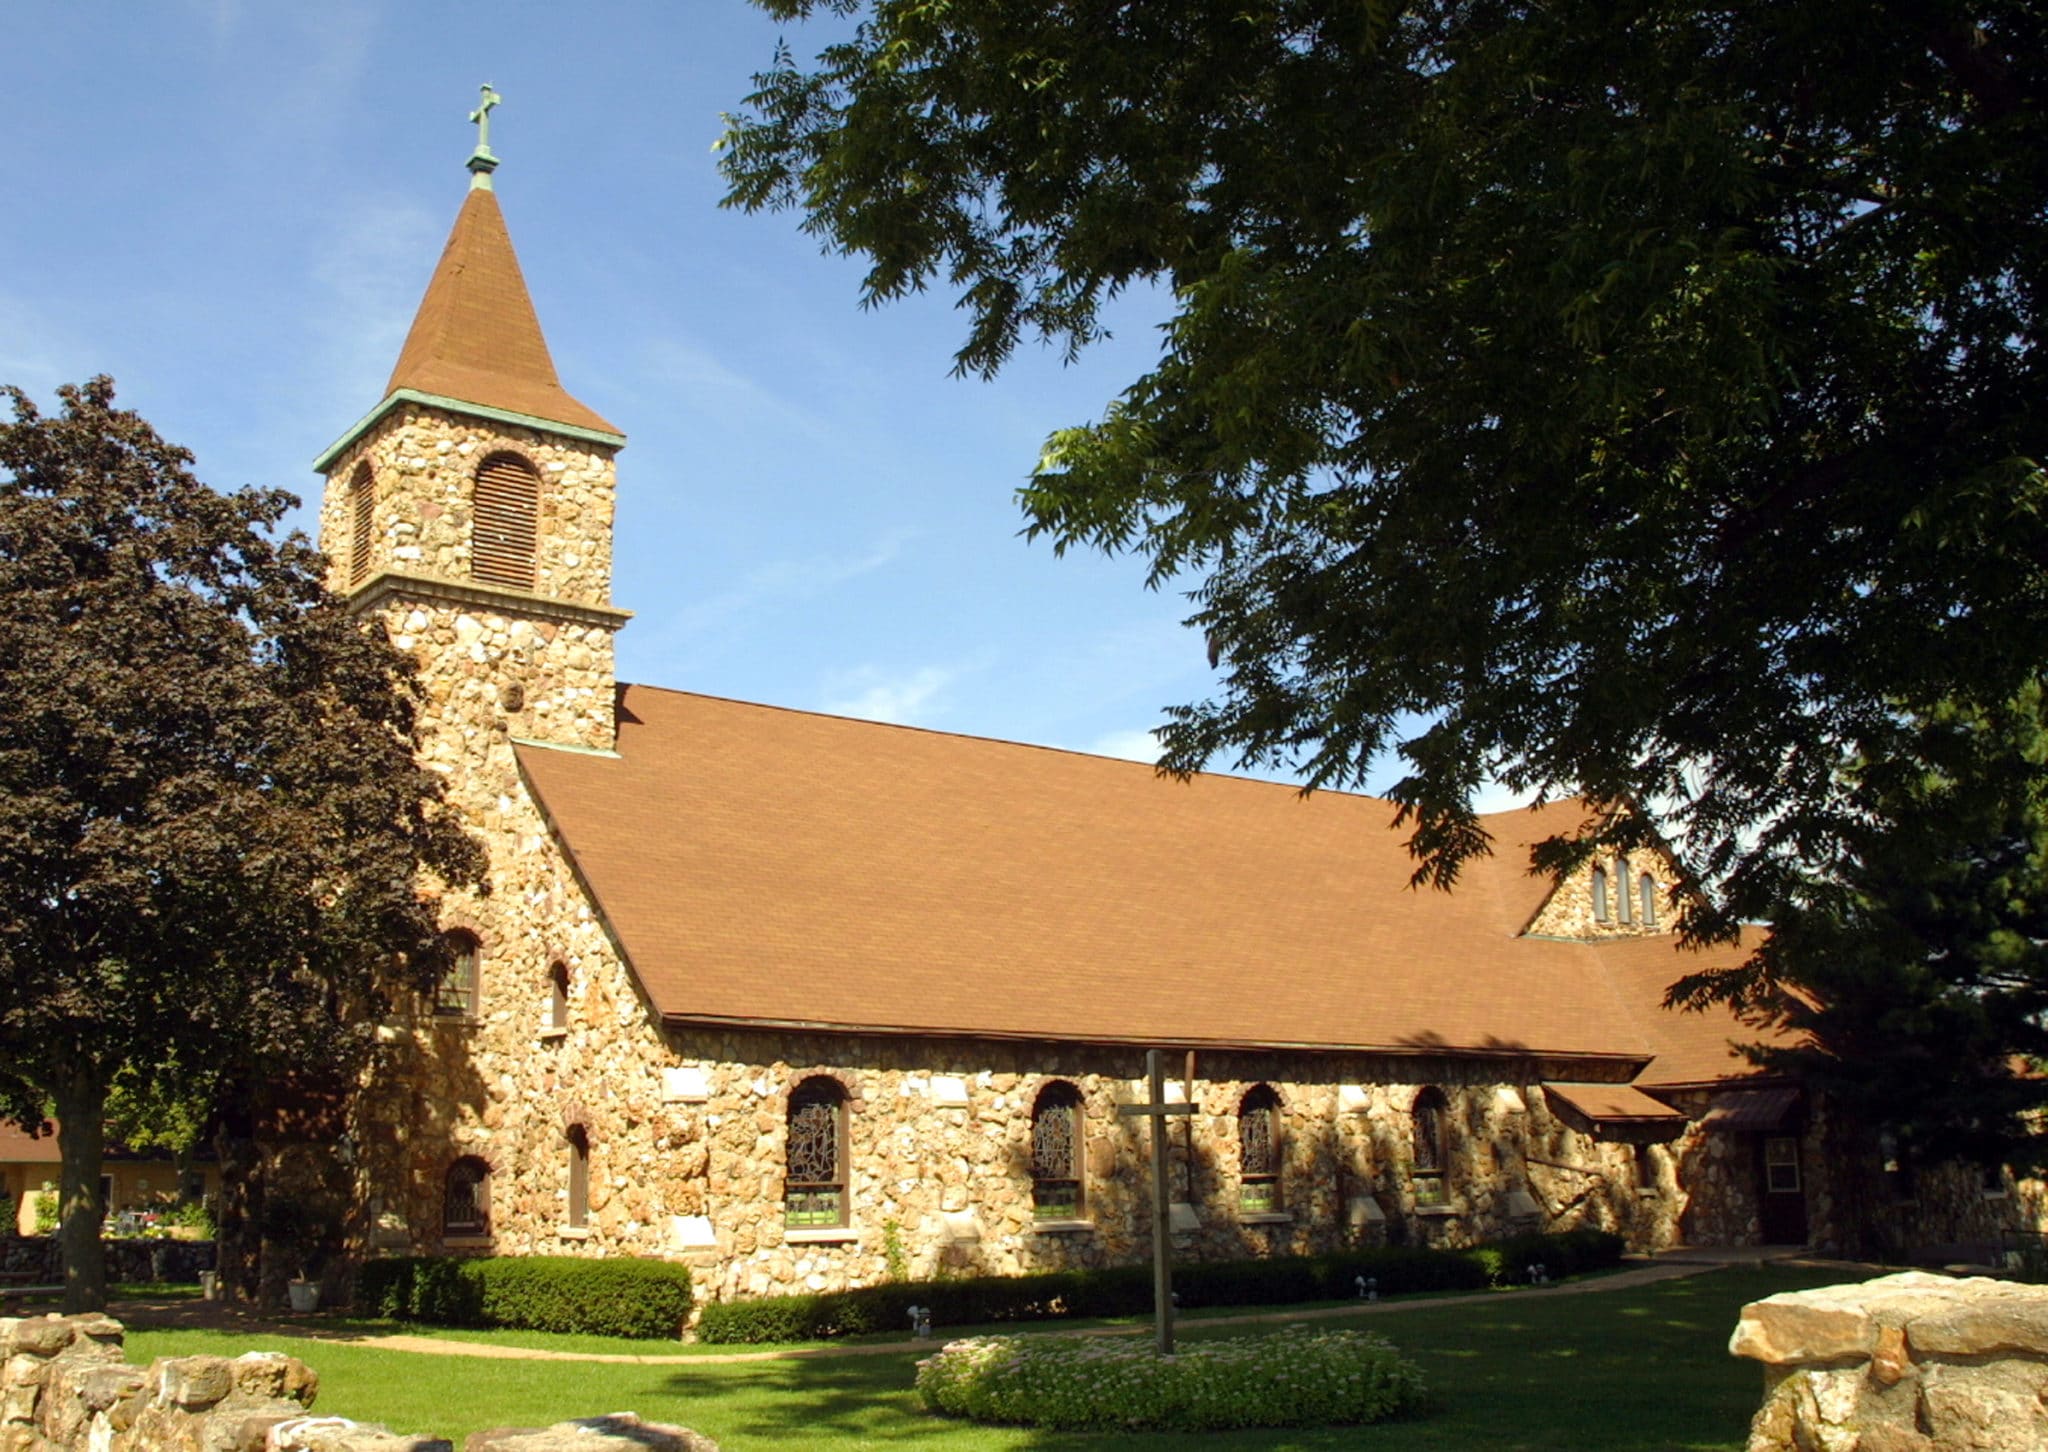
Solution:
M 1610 1276 L 1593 1276 L 1591 1280 L 1571 1280 L 1561 1286 L 1526 1288 L 1513 1292 L 1516 1296 L 1585 1296 L 1599 1294 L 1606 1290 L 1634 1290 L 1636 1286 L 1653 1286 L 1661 1280 L 1679 1280 L 1683 1276 L 1700 1276 L 1724 1266 L 1763 1266 L 1769 1262 L 1790 1262 L 1800 1259 L 1804 1247 L 1798 1245 L 1741 1245 L 1741 1247 L 1700 1247 L 1667 1251 L 1651 1262 L 1634 1262 L 1628 1270 L 1614 1272 Z M 1847 1266 L 1843 1270 L 1855 1274 L 1868 1274 L 1866 1266 Z M 1186 1317 L 1182 1319 L 1182 1329 L 1200 1331 L 1219 1325 L 1262 1325 L 1262 1323 L 1294 1323 L 1294 1321 L 1354 1321 L 1362 1317 L 1399 1315 L 1403 1311 L 1423 1311 L 1434 1307 L 1462 1307 L 1477 1302 L 1497 1302 L 1501 1292 L 1483 1290 L 1460 1296 L 1403 1296 L 1399 1300 L 1378 1300 L 1372 1305 L 1335 1305 L 1319 1307 L 1313 1311 L 1247 1311 L 1219 1317 Z M 831 1356 L 899 1356 L 903 1352 L 915 1352 L 926 1348 L 940 1348 L 946 1335 L 934 1335 L 930 1341 L 913 1341 L 909 1337 L 895 1341 L 862 1341 L 858 1346 L 811 1346 L 778 1352 L 702 1352 L 696 1356 L 678 1354 L 657 1354 L 657 1356 L 633 1356 L 621 1352 L 545 1352 L 528 1346 L 489 1346 L 483 1341 L 453 1341 L 438 1335 L 414 1335 L 410 1331 L 393 1333 L 358 1333 L 342 1329 L 324 1329 L 317 1321 L 274 1321 L 264 1317 L 252 1317 L 240 1313 L 231 1307 L 221 1307 L 219 1302 L 127 1302 L 109 1307 L 111 1315 L 121 1319 L 125 1325 L 147 1331 L 158 1327 L 207 1327 L 219 1331 L 233 1331 L 242 1335 L 274 1335 L 291 1341 L 330 1341 L 342 1346 L 371 1346 L 383 1352 L 414 1352 L 420 1356 L 481 1356 L 496 1360 L 520 1360 L 520 1362 L 616 1362 L 629 1366 L 733 1366 L 741 1362 L 797 1362 L 815 1360 Z M 1020 1327 L 1024 1329 L 1024 1327 Z M 1137 1325 L 1106 1325 L 1106 1327 L 1034 1327 L 1034 1335 L 1151 1335 L 1151 1323 Z

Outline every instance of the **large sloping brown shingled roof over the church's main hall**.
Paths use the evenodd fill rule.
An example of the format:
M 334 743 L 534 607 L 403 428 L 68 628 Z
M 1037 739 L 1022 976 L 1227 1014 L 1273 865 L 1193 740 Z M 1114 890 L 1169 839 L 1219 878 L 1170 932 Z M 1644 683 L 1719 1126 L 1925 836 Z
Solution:
M 647 686 L 621 692 L 616 758 L 518 760 L 670 1020 L 1616 1073 L 1659 1051 L 1606 948 L 1518 938 L 1548 891 L 1526 844 L 1577 803 L 1489 817 L 1495 856 L 1446 897 L 1407 887 L 1372 797 Z

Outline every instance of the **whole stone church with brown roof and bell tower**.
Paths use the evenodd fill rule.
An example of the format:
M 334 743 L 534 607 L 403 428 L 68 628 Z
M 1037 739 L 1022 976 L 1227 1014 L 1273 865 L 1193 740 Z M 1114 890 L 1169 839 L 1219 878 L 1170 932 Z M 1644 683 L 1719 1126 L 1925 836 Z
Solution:
M 1139 1259 L 1147 1049 L 1194 1106 L 1184 1257 L 1831 1241 L 1825 1106 L 1659 1008 L 1700 965 L 1673 864 L 1528 874 L 1579 803 L 1413 891 L 1368 797 L 618 682 L 625 434 L 555 375 L 494 166 L 315 465 L 330 584 L 418 657 L 492 862 L 352 1110 L 371 1253 L 678 1257 L 727 1298 Z M 2034 1192 L 1923 1188 L 1925 1239 Z

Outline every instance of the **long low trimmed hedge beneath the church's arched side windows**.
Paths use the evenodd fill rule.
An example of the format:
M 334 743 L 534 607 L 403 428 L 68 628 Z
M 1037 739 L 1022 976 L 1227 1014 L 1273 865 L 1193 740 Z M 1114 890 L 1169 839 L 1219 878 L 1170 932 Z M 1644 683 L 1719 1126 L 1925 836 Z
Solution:
M 1462 1251 L 1389 1245 L 1329 1255 L 1192 1262 L 1174 1268 L 1182 1307 L 1270 1307 L 1298 1300 L 1350 1300 L 1358 1280 L 1382 1296 L 1419 1290 L 1485 1290 L 1526 1280 L 1542 1262 L 1552 1278 L 1622 1259 L 1622 1239 L 1606 1231 L 1518 1235 Z M 1038 1276 L 963 1276 L 897 1280 L 858 1290 L 721 1300 L 696 1323 L 700 1341 L 827 1341 L 840 1335 L 907 1331 L 909 1309 L 930 1307 L 932 1325 L 1057 1321 L 1067 1317 L 1143 1315 L 1151 1305 L 1151 1266 L 1055 1270 Z

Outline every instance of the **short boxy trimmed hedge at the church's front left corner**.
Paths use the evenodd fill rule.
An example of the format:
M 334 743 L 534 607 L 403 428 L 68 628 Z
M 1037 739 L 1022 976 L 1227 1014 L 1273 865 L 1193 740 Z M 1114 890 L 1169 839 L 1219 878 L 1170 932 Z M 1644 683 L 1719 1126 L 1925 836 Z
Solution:
M 356 1309 L 420 1325 L 674 1339 L 690 1317 L 690 1268 L 584 1255 L 403 1255 L 365 1262 Z

